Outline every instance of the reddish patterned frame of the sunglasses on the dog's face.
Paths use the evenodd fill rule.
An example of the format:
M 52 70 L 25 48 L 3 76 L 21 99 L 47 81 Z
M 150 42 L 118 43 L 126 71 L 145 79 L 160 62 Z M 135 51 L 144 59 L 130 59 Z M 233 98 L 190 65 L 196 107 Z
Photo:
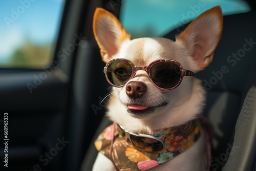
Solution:
M 132 75 L 131 75 L 131 77 L 130 77 L 125 83 L 127 83 L 130 79 L 134 78 L 134 76 L 135 76 L 135 74 L 136 74 L 136 72 L 137 72 L 138 70 L 143 70 L 143 71 L 145 71 L 145 72 L 147 73 L 147 76 L 148 76 L 148 78 L 150 78 L 150 81 L 151 81 L 158 89 L 163 90 L 163 91 L 170 91 L 170 90 L 176 89 L 178 86 L 180 86 L 180 84 L 181 84 L 181 82 L 182 82 L 184 76 L 191 76 L 191 77 L 194 77 L 194 76 L 195 76 L 195 73 L 194 73 L 193 71 L 184 70 L 180 62 L 178 62 L 178 61 L 176 61 L 176 60 L 172 60 L 172 59 L 158 59 L 158 60 L 155 60 L 155 61 L 151 62 L 150 65 L 148 65 L 148 66 L 136 66 L 131 60 L 124 59 L 124 58 L 115 58 L 115 59 L 109 60 L 108 63 L 106 63 L 106 66 L 104 67 L 103 72 L 104 72 L 105 77 L 106 77 L 106 80 L 109 82 L 109 84 L 110 84 L 111 86 L 117 87 L 117 88 L 123 87 L 123 86 L 125 85 L 125 83 L 122 84 L 121 86 L 116 86 L 115 84 L 113 84 L 113 83 L 109 80 L 108 74 L 107 74 L 107 72 L 108 72 L 108 67 L 109 67 L 109 66 L 111 65 L 111 63 L 113 63 L 114 61 L 126 61 L 126 62 L 128 62 L 128 63 L 131 65 L 131 67 L 132 67 Z M 152 80 L 152 77 L 151 77 L 151 75 L 150 75 L 150 70 L 151 70 L 151 68 L 152 68 L 154 65 L 156 65 L 157 63 L 160 63 L 160 62 L 170 62 L 170 63 L 174 63 L 175 65 L 177 65 L 177 66 L 180 68 L 180 72 L 181 72 L 181 73 L 180 73 L 180 80 L 179 80 L 179 82 L 176 84 L 176 86 L 174 86 L 173 88 L 168 88 L 168 89 L 161 88 L 161 87 L 157 86 L 157 85 L 155 84 L 155 82 Z

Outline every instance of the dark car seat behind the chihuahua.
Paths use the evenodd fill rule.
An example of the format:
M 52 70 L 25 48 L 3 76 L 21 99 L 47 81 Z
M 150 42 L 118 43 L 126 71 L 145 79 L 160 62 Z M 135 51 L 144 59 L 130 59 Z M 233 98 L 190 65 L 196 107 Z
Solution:
M 214 59 L 204 71 L 196 74 L 207 91 L 203 115 L 214 129 L 210 166 L 215 170 L 255 170 L 256 12 L 228 15 L 223 19 L 222 38 Z M 181 26 L 164 37 L 175 40 L 175 35 L 184 28 Z M 92 169 L 98 153 L 93 142 L 109 124 L 111 121 L 104 117 L 81 170 Z

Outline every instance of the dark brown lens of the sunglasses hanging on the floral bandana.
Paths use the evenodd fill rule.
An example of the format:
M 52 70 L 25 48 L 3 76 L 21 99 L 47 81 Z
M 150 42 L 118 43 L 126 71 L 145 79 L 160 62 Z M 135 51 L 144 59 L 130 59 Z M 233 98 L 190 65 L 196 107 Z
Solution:
M 134 135 L 131 135 L 131 141 L 132 144 L 139 148 L 139 149 L 144 149 L 144 151 L 149 151 L 149 152 L 159 152 L 163 149 L 163 144 L 152 138 L 144 138 L 144 137 L 137 137 Z

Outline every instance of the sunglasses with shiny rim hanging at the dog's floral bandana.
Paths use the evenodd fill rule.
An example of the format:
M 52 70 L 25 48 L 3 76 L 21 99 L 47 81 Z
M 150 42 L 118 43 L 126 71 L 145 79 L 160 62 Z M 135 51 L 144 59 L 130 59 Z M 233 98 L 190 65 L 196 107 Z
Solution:
M 119 124 L 117 124 L 117 129 L 125 141 L 129 140 L 134 147 L 142 149 L 143 151 L 159 152 L 164 148 L 164 142 L 158 137 L 128 132 Z

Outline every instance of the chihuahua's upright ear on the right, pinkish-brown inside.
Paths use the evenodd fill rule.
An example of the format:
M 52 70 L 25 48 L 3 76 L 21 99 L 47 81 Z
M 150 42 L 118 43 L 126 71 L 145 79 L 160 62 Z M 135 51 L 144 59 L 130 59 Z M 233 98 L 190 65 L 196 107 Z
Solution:
M 223 27 L 221 8 L 211 8 L 199 15 L 180 35 L 177 42 L 185 45 L 197 62 L 198 70 L 209 65 L 220 41 Z

